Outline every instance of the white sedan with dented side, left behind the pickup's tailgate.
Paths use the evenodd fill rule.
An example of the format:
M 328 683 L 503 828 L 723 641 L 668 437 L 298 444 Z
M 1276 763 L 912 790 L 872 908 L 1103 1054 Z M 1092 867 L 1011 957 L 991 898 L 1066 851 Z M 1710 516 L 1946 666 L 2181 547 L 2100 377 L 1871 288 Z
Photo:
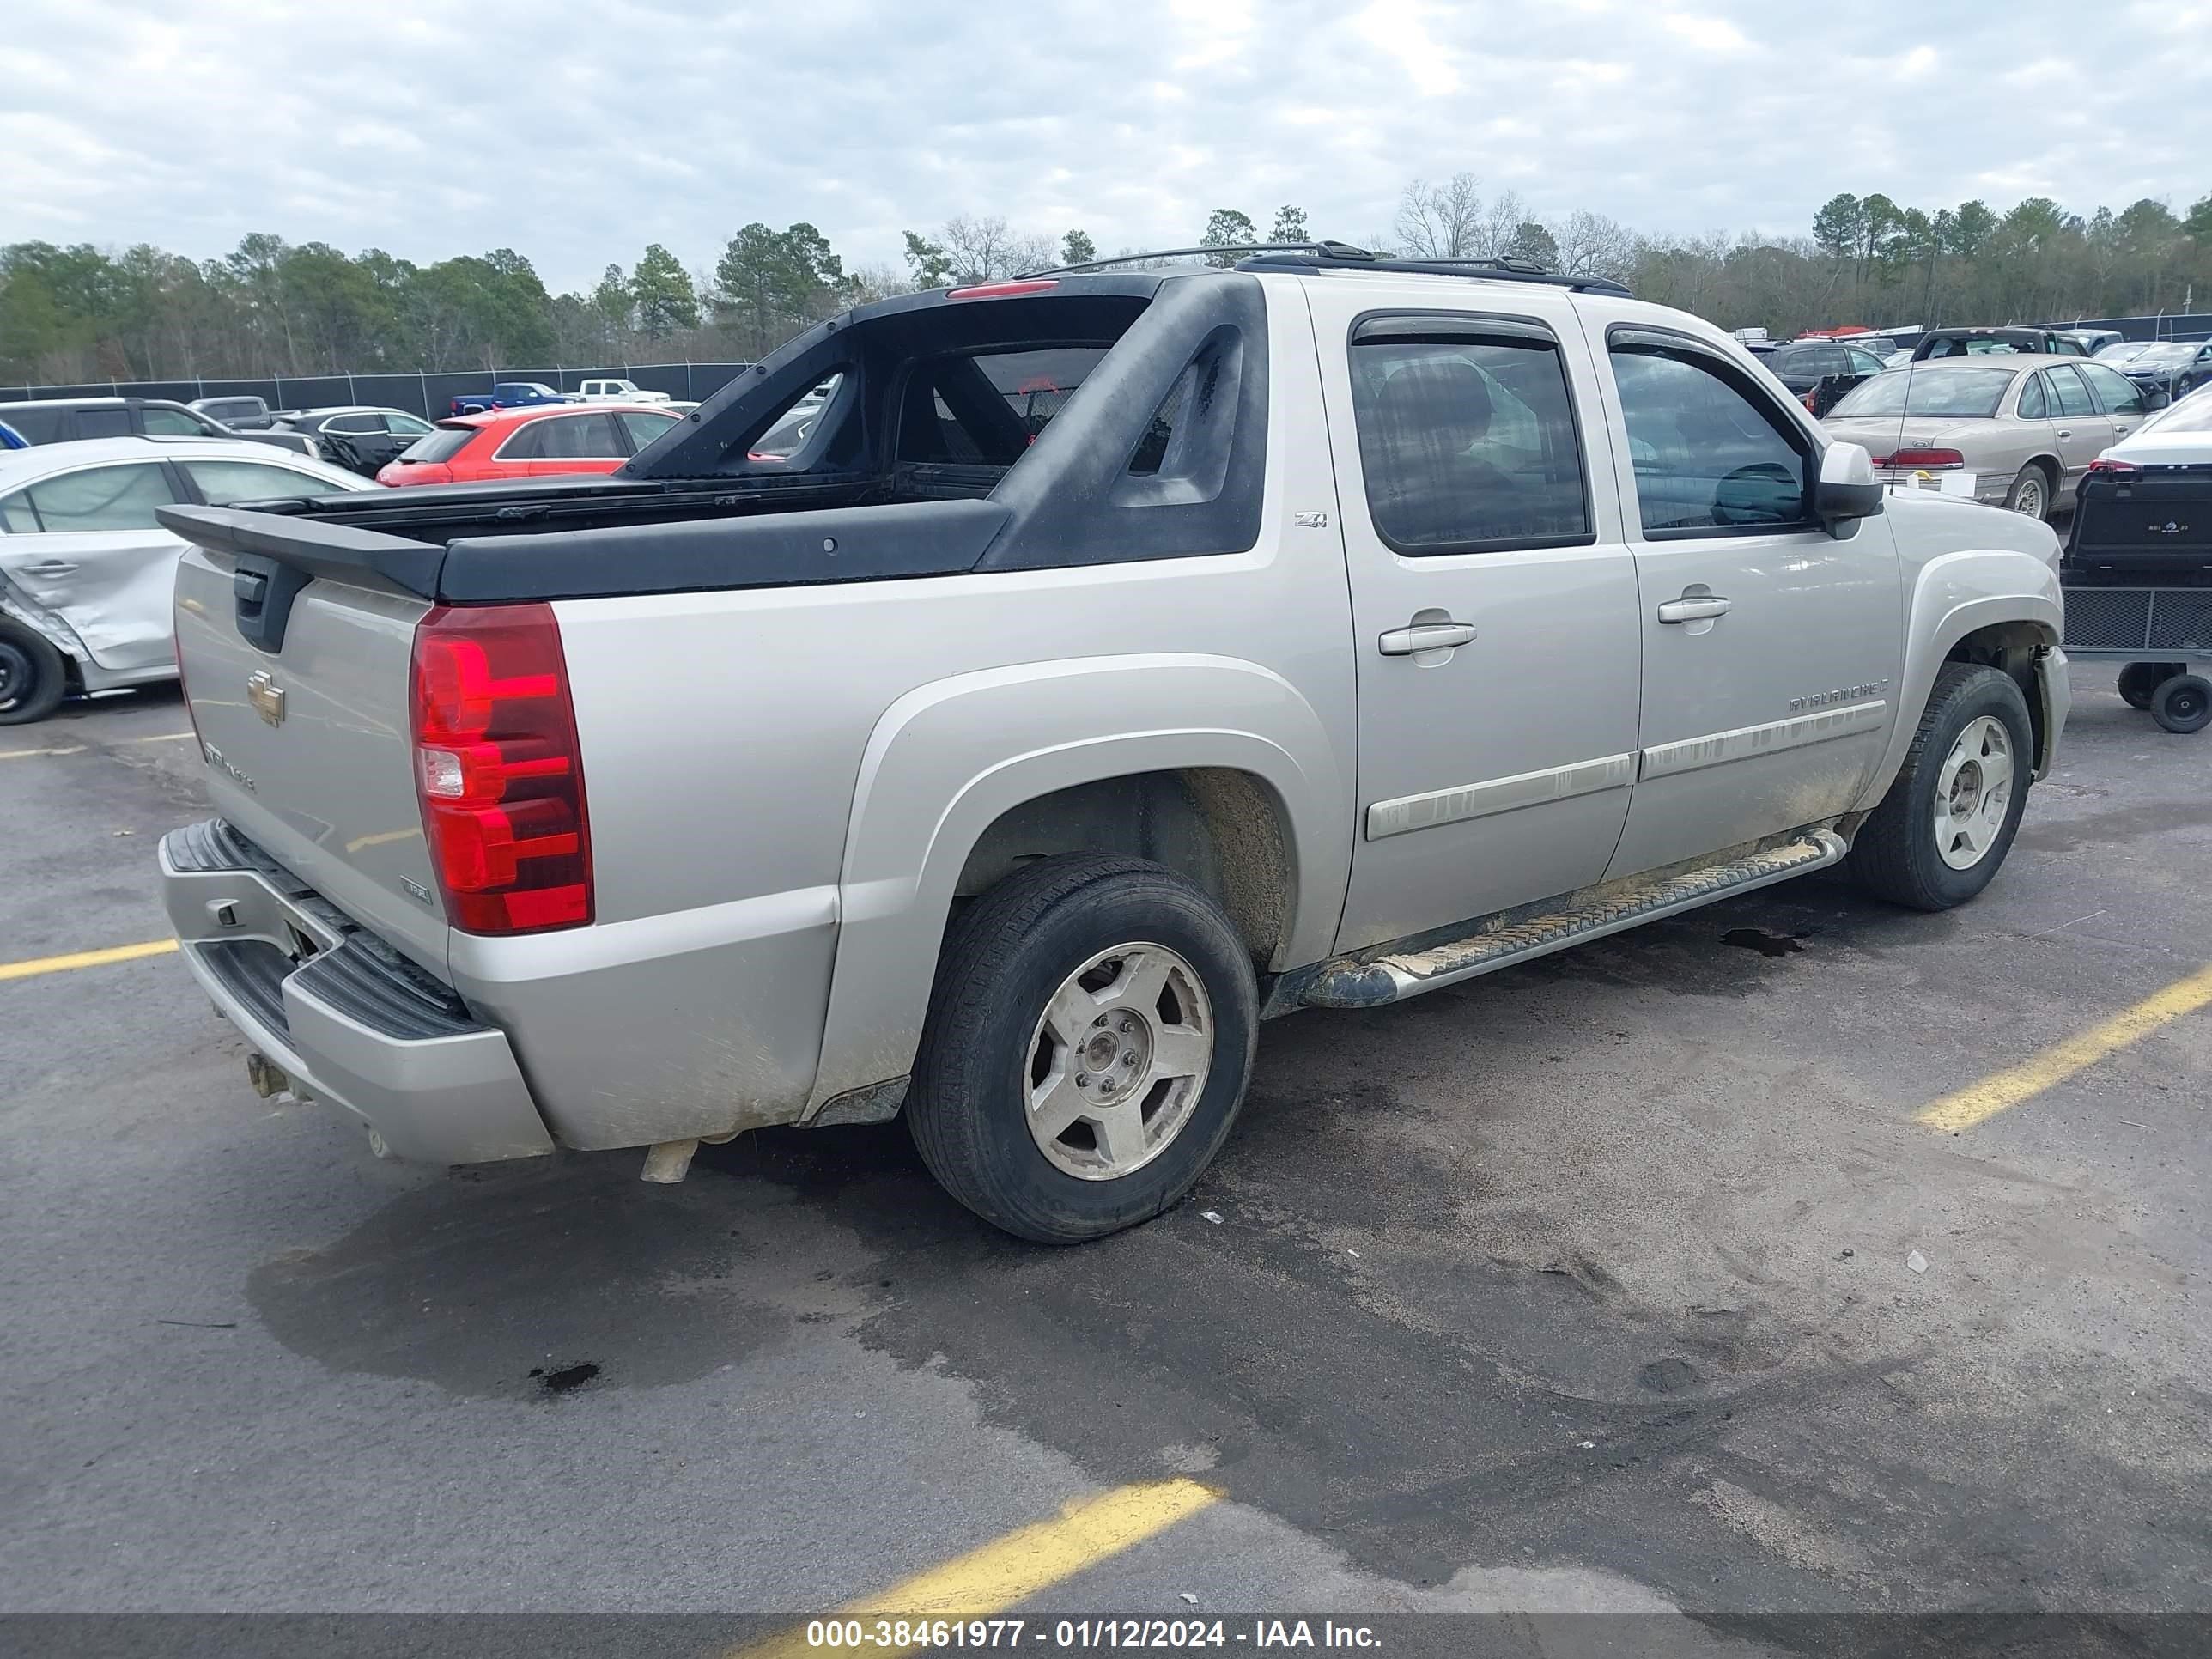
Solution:
M 0 451 L 0 726 L 71 692 L 177 677 L 184 542 L 155 509 L 376 489 L 321 460 L 223 438 L 91 438 Z

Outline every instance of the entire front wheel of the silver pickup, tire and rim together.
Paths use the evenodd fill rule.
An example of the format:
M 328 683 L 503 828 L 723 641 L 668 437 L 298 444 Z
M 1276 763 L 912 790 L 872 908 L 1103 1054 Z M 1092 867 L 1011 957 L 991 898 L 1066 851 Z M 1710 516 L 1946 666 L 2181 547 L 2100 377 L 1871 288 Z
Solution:
M 2013 847 L 2031 757 L 2017 681 L 1978 664 L 1944 664 L 1905 765 L 1851 843 L 1851 876 L 1893 905 L 1964 905 Z

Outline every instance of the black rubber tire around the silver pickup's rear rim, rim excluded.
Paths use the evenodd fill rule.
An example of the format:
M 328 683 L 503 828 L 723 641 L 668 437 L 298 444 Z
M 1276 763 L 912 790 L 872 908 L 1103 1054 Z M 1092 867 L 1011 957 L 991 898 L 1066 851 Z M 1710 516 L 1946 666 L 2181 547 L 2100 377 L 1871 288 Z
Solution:
M 1037 1022 L 1099 951 L 1155 942 L 1199 978 L 1212 1057 L 1181 1128 L 1113 1179 L 1068 1175 L 1029 1133 Z M 1141 858 L 1044 858 L 987 891 L 953 925 L 907 1091 L 922 1164 L 960 1203 L 1037 1243 L 1082 1243 L 1148 1221 L 1212 1161 L 1243 1104 L 1259 984 L 1243 940 L 1197 887 Z

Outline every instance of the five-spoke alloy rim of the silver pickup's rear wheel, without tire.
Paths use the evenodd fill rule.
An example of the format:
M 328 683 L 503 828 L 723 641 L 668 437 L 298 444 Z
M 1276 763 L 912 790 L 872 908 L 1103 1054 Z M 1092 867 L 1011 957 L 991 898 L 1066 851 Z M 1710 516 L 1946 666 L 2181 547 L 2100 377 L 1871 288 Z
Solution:
M 1024 1119 L 1046 1161 L 1117 1181 L 1190 1124 L 1214 1060 L 1214 1013 L 1194 967 L 1166 945 L 1099 951 L 1060 982 L 1029 1037 Z

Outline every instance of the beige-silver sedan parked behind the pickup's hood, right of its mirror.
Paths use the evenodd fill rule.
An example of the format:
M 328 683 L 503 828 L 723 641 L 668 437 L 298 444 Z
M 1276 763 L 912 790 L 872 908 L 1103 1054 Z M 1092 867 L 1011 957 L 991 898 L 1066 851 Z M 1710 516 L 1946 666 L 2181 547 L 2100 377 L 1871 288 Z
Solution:
M 1878 374 L 1823 425 L 1865 445 L 1889 482 L 2048 518 L 2154 403 L 2104 363 L 1991 354 Z

